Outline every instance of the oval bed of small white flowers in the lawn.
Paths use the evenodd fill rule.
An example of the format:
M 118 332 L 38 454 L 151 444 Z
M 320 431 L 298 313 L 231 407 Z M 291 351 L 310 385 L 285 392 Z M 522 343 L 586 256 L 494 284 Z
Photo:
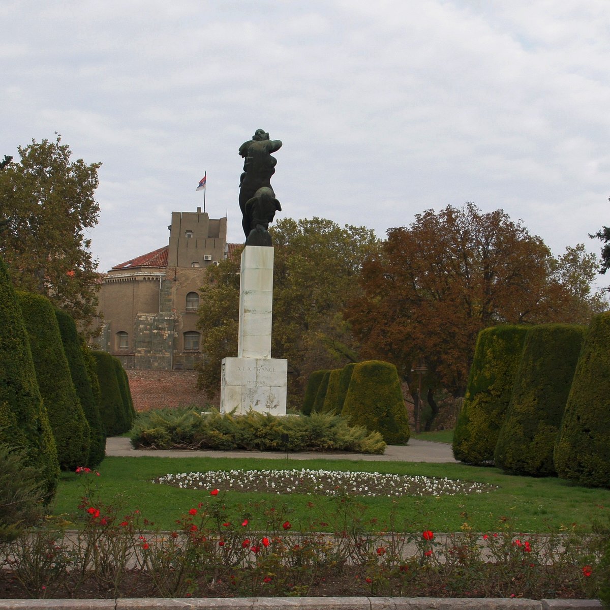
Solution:
M 404 495 L 455 495 L 487 493 L 495 486 L 473 481 L 429 476 L 384 475 L 378 472 L 337 470 L 210 470 L 165 475 L 153 483 L 182 489 L 231 490 L 239 492 L 304 493 L 306 495 L 360 495 L 400 497 Z

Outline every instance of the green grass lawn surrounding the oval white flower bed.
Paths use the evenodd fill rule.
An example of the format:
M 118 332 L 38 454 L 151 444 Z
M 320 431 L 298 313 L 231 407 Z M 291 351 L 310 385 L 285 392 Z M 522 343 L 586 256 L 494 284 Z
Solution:
M 501 528 L 504 520 L 514 520 L 517 531 L 546 533 L 565 528 L 587 530 L 594 519 L 610 516 L 610 490 L 573 486 L 556 478 L 534 479 L 505 475 L 498 468 L 470 467 L 462 464 L 425 464 L 419 462 L 365 462 L 336 460 L 231 459 L 231 458 L 106 458 L 101 476 L 63 473 L 54 504 L 54 514 L 72 520 L 84 511 L 77 509 L 85 493 L 85 481 L 98 487 L 104 503 L 121 506 L 129 512 L 139 509 L 142 516 L 162 529 L 173 529 L 176 519 L 199 502 L 226 504 L 232 520 L 248 517 L 256 526 L 264 503 L 286 511 L 295 527 L 312 522 L 334 523 L 351 503 L 319 495 L 273 495 L 220 490 L 210 498 L 209 490 L 178 489 L 151 483 L 167 473 L 203 472 L 205 470 L 265 470 L 278 468 L 312 468 L 324 470 L 367 471 L 467 479 L 499 486 L 490 493 L 443 497 L 357 498 L 365 507 L 367 525 L 380 529 L 393 515 L 395 529 L 403 531 L 459 531 L 464 523 L 475 531 Z M 283 508 L 282 508 L 283 507 Z M 356 511 L 357 512 L 357 511 Z M 263 523 L 260 522 L 262 526 Z M 326 528 L 328 529 L 328 527 Z

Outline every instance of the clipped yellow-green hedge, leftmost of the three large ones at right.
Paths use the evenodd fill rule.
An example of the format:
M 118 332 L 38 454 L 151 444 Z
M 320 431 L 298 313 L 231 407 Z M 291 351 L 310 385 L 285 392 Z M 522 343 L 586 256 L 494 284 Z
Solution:
M 453 455 L 468 464 L 491 464 L 511 400 L 526 326 L 492 326 L 479 332 L 464 404 L 453 435 Z

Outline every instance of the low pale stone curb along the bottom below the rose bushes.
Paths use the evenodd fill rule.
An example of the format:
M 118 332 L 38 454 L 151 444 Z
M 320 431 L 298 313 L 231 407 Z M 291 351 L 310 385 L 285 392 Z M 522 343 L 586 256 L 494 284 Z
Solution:
M 239 597 L 0 600 L 0 610 L 601 610 L 599 600 L 463 597 Z

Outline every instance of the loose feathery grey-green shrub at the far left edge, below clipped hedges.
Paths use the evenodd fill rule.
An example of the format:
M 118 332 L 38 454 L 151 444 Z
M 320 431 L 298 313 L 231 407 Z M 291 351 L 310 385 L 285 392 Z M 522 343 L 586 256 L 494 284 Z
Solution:
M 24 450 L 0 443 L 0 542 L 14 540 L 43 516 L 45 487 Z

